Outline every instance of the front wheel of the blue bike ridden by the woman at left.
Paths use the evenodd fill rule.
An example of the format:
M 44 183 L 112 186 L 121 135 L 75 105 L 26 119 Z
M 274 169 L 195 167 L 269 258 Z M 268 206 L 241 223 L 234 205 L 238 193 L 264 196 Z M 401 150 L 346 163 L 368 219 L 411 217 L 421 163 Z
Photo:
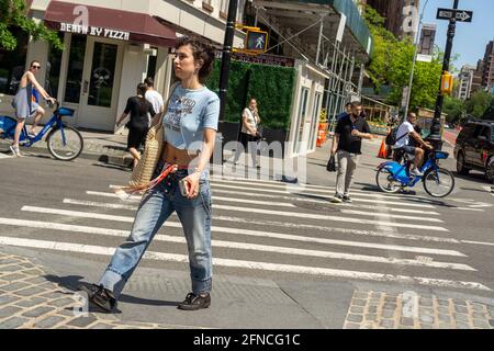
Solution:
M 82 152 L 85 145 L 80 133 L 67 126 L 64 126 L 64 129 L 53 129 L 46 143 L 49 154 L 61 161 L 71 161 L 77 158 Z

